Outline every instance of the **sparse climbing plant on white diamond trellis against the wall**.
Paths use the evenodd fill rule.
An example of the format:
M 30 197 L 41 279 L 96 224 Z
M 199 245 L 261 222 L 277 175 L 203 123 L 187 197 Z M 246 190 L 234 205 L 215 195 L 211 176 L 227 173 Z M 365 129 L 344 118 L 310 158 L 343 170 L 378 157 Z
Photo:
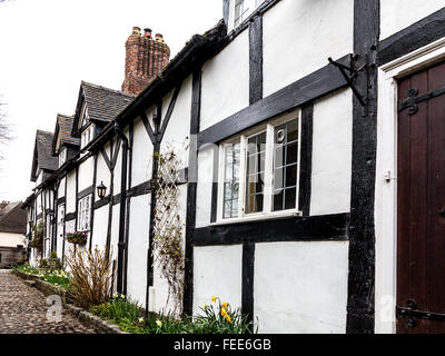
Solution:
M 168 298 L 174 304 L 176 313 L 182 313 L 184 293 L 184 227 L 179 215 L 180 179 L 178 167 L 182 166 L 185 145 L 180 150 L 169 149 L 165 154 L 156 154 L 158 158 L 158 174 L 154 179 L 152 189 L 156 195 L 155 226 L 154 226 L 154 260 L 160 268 L 161 277 L 168 283 Z

